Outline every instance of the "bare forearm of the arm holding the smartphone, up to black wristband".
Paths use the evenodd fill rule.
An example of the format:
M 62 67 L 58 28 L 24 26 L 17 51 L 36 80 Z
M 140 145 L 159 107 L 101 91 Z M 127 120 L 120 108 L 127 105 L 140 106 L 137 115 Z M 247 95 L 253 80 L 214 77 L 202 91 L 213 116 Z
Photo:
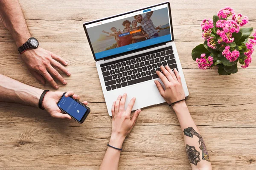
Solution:
M 0 74 L 0 102 L 15 102 L 38 107 L 43 90 Z

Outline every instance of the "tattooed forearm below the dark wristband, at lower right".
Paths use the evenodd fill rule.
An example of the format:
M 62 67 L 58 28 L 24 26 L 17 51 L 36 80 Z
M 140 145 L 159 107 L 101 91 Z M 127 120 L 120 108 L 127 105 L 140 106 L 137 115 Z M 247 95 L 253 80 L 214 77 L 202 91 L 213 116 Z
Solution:
M 193 170 L 211 170 L 212 165 L 209 159 L 204 140 L 193 121 L 186 102 L 182 101 L 173 105 L 173 109 L 180 122 L 183 131 L 186 152 Z

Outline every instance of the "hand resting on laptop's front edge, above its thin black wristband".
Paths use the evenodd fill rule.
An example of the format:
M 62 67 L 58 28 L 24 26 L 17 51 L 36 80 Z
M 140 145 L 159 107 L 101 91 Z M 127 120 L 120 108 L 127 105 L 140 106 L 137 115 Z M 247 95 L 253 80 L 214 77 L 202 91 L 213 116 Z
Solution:
M 132 98 L 125 110 L 125 100 L 127 94 L 119 95 L 112 105 L 112 134 L 110 145 L 115 147 L 122 147 L 122 142 L 125 137 L 131 132 L 135 122 L 140 114 L 140 109 L 134 112 L 131 118 L 131 110 L 135 103 L 135 98 Z

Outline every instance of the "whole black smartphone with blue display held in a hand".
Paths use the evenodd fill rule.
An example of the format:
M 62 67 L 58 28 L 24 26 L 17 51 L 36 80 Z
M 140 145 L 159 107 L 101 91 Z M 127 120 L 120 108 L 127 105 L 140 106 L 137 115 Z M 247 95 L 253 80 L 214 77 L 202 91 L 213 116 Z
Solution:
M 59 99 L 57 105 L 61 111 L 69 114 L 76 122 L 83 123 L 88 114 L 90 113 L 90 108 L 88 108 L 83 103 L 79 102 L 73 97 L 65 97 L 64 93 Z

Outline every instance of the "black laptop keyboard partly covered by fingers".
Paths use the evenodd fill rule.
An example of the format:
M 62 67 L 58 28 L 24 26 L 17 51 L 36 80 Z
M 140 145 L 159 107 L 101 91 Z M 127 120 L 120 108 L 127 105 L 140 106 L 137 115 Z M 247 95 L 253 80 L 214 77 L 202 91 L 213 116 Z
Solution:
M 158 78 L 156 71 L 168 65 L 177 69 L 172 46 L 101 64 L 107 91 Z M 178 69 L 177 69 L 178 71 Z

